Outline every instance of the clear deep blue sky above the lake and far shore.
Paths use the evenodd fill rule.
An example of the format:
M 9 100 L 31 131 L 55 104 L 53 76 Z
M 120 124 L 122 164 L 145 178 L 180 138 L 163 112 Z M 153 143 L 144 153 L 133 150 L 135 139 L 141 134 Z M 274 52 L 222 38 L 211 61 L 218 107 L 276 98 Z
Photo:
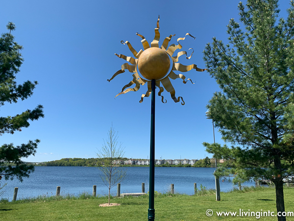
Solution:
M 280 15 L 286 17 L 288 0 L 280 1 Z M 1 107 L 1 116 L 13 116 L 26 109 L 44 106 L 45 118 L 31 122 L 30 127 L 14 135 L 3 135 L 0 144 L 20 145 L 29 139 L 40 139 L 35 156 L 25 161 L 43 162 L 61 158 L 96 158 L 97 148 L 107 138 L 111 123 L 119 132 L 127 158 L 149 157 L 150 103 L 139 103 L 147 85 L 137 92 L 128 92 L 114 99 L 123 85 L 132 80 L 126 71 L 110 83 L 107 79 L 125 62 L 114 54 L 131 56 L 121 40 L 129 41 L 137 50 L 143 49 L 144 35 L 150 43 L 160 15 L 159 45 L 165 37 L 178 37 L 184 51 L 195 50 L 192 58 L 184 56 L 180 63 L 205 68 L 203 50 L 212 37 L 226 41 L 229 19 L 239 20 L 239 0 L 161 0 L 161 1 L 97 1 L 97 0 L 13 0 L 2 1 L 0 31 L 6 24 L 16 24 L 13 34 L 24 46 L 25 59 L 17 82 L 38 81 L 32 97 L 17 104 Z M 186 72 L 195 84 L 172 80 L 176 96 L 185 105 L 174 103 L 168 92 L 161 103 L 156 95 L 155 158 L 202 159 L 212 157 L 202 142 L 213 142 L 212 121 L 206 119 L 206 105 L 218 84 L 207 72 Z M 157 89 L 158 92 L 158 89 Z M 216 130 L 216 142 L 222 142 Z

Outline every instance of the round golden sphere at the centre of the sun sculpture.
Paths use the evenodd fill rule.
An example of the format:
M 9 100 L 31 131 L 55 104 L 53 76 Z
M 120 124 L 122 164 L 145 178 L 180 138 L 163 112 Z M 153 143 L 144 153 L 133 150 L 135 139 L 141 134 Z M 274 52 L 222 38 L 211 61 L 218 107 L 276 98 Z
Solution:
M 138 69 L 141 75 L 151 81 L 164 78 L 170 69 L 169 55 L 160 48 L 148 48 L 139 57 Z

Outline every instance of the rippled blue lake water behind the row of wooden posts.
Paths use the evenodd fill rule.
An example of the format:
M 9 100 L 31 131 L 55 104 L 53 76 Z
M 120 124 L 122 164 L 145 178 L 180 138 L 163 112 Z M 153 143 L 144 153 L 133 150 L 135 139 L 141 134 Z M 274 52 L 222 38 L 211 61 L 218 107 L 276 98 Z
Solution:
M 145 183 L 145 192 L 149 189 L 149 167 L 124 167 L 127 169 L 125 180 L 121 182 L 121 193 L 142 192 L 141 183 Z M 171 184 L 177 193 L 194 194 L 194 183 L 197 188 L 200 184 L 206 188 L 215 189 L 215 168 L 194 167 L 155 167 L 155 191 L 167 192 Z M 17 198 L 26 198 L 37 195 L 55 195 L 56 187 L 61 187 L 61 194 L 92 193 L 93 185 L 97 185 L 97 194 L 108 194 L 107 187 L 100 180 L 100 170 L 96 167 L 72 166 L 36 166 L 29 178 L 24 178 L 21 183 L 17 179 L 1 180 L 1 186 L 7 182 L 2 190 L 2 198 L 13 197 L 15 187 L 18 187 Z M 254 185 L 253 182 L 245 183 L 246 186 Z M 221 191 L 232 189 L 232 184 L 220 179 Z M 111 193 L 116 195 L 116 186 Z

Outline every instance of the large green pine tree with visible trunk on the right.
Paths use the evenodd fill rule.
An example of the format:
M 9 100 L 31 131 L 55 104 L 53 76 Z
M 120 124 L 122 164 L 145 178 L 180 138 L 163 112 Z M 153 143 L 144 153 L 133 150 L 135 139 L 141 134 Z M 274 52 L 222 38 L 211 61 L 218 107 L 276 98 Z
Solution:
M 284 20 L 278 0 L 240 2 L 245 30 L 231 19 L 229 44 L 213 38 L 204 50 L 209 73 L 221 88 L 207 108 L 222 139 L 232 146 L 203 144 L 218 159 L 231 159 L 240 178 L 272 181 L 277 212 L 285 211 L 283 183 L 294 175 L 292 0 L 290 5 Z

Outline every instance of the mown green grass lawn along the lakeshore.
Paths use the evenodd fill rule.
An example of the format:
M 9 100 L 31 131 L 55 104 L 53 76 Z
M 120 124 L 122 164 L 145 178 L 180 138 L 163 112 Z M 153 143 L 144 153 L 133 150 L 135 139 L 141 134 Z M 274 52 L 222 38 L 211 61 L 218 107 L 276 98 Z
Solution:
M 294 211 L 294 188 L 284 188 L 286 211 Z M 216 201 L 214 191 L 199 191 L 197 195 L 157 193 L 155 195 L 156 221 L 219 221 L 219 220 L 274 220 L 276 217 L 218 217 L 216 212 L 248 211 L 275 212 L 275 191 L 273 188 L 250 187 L 243 191 L 232 190 L 221 193 L 221 201 Z M 107 197 L 92 197 L 85 193 L 78 196 L 38 196 L 35 198 L 2 201 L 0 220 L 4 221 L 145 221 L 147 220 L 148 196 L 134 198 L 112 198 L 112 203 L 120 206 L 99 207 Z M 211 217 L 205 215 L 211 209 Z M 287 221 L 294 217 L 287 217 Z

